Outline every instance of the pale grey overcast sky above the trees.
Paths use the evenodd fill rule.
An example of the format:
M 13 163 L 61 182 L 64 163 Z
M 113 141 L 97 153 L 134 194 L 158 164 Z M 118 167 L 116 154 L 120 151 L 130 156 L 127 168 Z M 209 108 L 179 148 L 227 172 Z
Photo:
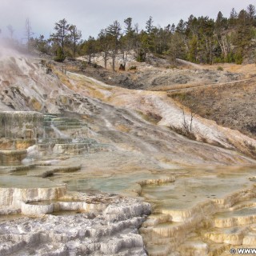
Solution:
M 150 16 L 154 26 L 177 25 L 190 14 L 216 18 L 220 10 L 229 17 L 233 7 L 238 12 L 250 4 L 256 6 L 256 0 L 0 0 L 0 29 L 2 36 L 6 35 L 6 26 L 11 25 L 14 38 L 20 39 L 29 18 L 34 36 L 43 34 L 48 38 L 54 32 L 54 23 L 66 18 L 82 30 L 82 38 L 86 39 L 89 35 L 97 37 L 115 20 L 123 26 L 128 17 L 143 29 Z

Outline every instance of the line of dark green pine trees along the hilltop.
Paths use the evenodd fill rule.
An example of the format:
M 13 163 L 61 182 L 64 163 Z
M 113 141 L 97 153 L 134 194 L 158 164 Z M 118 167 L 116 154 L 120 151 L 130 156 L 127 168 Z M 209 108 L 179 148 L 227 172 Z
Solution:
M 246 10 L 237 12 L 234 8 L 228 18 L 218 12 L 217 18 L 208 16 L 180 20 L 177 25 L 154 26 L 150 17 L 145 28 L 140 30 L 138 23 L 126 18 L 123 27 L 114 21 L 98 33 L 97 38 L 90 36 L 82 40 L 82 32 L 66 19 L 55 23 L 54 33 L 46 39 L 30 38 L 30 45 L 37 50 L 54 54 L 55 60 L 62 62 L 66 56 L 75 58 L 87 55 L 89 62 L 94 54 L 102 54 L 105 67 L 111 60 L 115 70 L 115 58 L 122 53 L 126 68 L 127 55 L 134 53 L 138 62 L 146 61 L 146 54 L 168 58 L 175 62 L 182 58 L 190 62 L 213 64 L 216 62 L 236 62 L 241 64 L 250 50 L 256 35 L 256 10 L 249 5 Z

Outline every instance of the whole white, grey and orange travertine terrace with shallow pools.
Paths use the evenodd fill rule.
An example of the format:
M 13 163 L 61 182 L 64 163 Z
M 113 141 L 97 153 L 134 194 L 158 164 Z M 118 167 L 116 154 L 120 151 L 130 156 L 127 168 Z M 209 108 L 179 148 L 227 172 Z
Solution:
M 255 245 L 254 139 L 199 116 L 195 140 L 176 134 L 170 126 L 182 129 L 190 112 L 165 91 L 34 58 L 2 55 L 0 66 L 1 255 L 226 255 Z

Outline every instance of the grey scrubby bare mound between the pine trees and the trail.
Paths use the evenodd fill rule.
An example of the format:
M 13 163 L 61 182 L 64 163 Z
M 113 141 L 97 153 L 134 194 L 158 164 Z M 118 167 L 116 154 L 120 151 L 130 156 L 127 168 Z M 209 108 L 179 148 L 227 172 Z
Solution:
M 135 90 L 174 90 L 212 83 L 234 82 L 244 78 L 244 74 L 235 70 L 224 70 L 224 68 L 218 70 L 218 66 L 192 66 L 192 64 L 183 61 L 173 66 L 170 63 L 163 64 L 162 59 L 150 58 L 146 63 L 130 62 L 126 71 L 113 72 L 92 64 L 87 65 L 80 72 L 112 86 Z M 77 70 L 75 62 L 73 66 L 72 63 L 66 66 L 67 70 Z M 130 67 L 134 69 L 130 70 Z

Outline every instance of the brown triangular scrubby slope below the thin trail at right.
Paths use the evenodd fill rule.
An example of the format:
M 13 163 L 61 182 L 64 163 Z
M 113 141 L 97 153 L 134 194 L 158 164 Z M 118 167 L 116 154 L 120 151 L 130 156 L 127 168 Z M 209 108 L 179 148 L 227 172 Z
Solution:
M 256 138 L 255 81 L 170 93 L 170 97 L 202 118 Z

